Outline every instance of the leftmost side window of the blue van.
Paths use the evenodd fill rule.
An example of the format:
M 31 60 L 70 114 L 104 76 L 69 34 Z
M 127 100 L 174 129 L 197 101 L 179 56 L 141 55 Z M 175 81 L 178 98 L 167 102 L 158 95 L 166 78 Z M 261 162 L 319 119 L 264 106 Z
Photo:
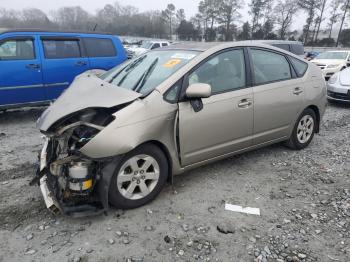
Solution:
M 31 39 L 9 39 L 0 42 L 0 60 L 35 59 L 34 43 Z

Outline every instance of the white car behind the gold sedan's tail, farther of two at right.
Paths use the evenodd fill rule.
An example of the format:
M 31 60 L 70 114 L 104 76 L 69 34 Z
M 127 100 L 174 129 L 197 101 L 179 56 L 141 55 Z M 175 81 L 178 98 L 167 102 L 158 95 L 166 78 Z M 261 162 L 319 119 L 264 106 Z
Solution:
M 350 66 L 350 51 L 327 51 L 316 56 L 311 62 L 320 67 L 324 77 L 328 79 L 334 73 Z

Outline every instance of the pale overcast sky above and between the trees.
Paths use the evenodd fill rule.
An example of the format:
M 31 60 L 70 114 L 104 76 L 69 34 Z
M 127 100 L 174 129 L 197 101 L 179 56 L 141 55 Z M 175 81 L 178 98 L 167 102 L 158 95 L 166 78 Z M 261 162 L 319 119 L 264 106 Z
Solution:
M 200 0 L 119 0 L 122 5 L 133 5 L 141 12 L 148 10 L 165 9 L 168 3 L 173 3 L 177 9 L 185 9 L 186 17 L 190 18 L 198 11 L 198 3 Z M 242 22 L 250 20 L 248 16 L 248 2 L 244 1 L 245 8 L 241 11 Z M 95 13 L 96 10 L 103 8 L 106 4 L 113 4 L 115 0 L 0 0 L 0 8 L 10 8 L 21 10 L 27 7 L 39 8 L 46 13 L 51 10 L 58 9 L 62 6 L 77 6 L 80 5 L 90 13 Z M 301 29 L 305 23 L 305 16 L 299 15 L 292 26 L 293 29 Z

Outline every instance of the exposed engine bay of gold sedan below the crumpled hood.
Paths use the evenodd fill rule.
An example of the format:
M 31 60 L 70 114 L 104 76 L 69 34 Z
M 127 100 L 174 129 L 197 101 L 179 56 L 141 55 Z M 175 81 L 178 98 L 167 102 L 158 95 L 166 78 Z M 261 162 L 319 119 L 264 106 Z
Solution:
M 100 192 L 99 184 L 109 161 L 89 159 L 79 150 L 114 120 L 115 110 L 77 112 L 45 132 L 46 142 L 35 179 L 40 179 L 45 203 L 53 213 L 88 215 L 108 208 L 108 201 L 103 201 L 108 199 L 108 190 Z

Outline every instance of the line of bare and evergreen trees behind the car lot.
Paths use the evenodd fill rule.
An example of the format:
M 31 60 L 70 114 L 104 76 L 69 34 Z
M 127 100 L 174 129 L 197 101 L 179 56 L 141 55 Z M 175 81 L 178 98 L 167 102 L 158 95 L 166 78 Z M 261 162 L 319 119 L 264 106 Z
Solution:
M 0 28 L 45 28 L 109 32 L 118 35 L 194 41 L 248 39 L 299 40 L 305 45 L 350 46 L 350 0 L 250 0 L 243 20 L 243 0 L 202 0 L 187 18 L 183 8 L 139 12 L 130 5 L 107 4 L 95 14 L 80 6 L 49 14 L 37 8 L 0 8 Z M 306 14 L 302 32 L 292 30 L 298 14 Z M 338 29 L 339 28 L 339 29 Z M 320 37 L 326 35 L 326 37 Z

